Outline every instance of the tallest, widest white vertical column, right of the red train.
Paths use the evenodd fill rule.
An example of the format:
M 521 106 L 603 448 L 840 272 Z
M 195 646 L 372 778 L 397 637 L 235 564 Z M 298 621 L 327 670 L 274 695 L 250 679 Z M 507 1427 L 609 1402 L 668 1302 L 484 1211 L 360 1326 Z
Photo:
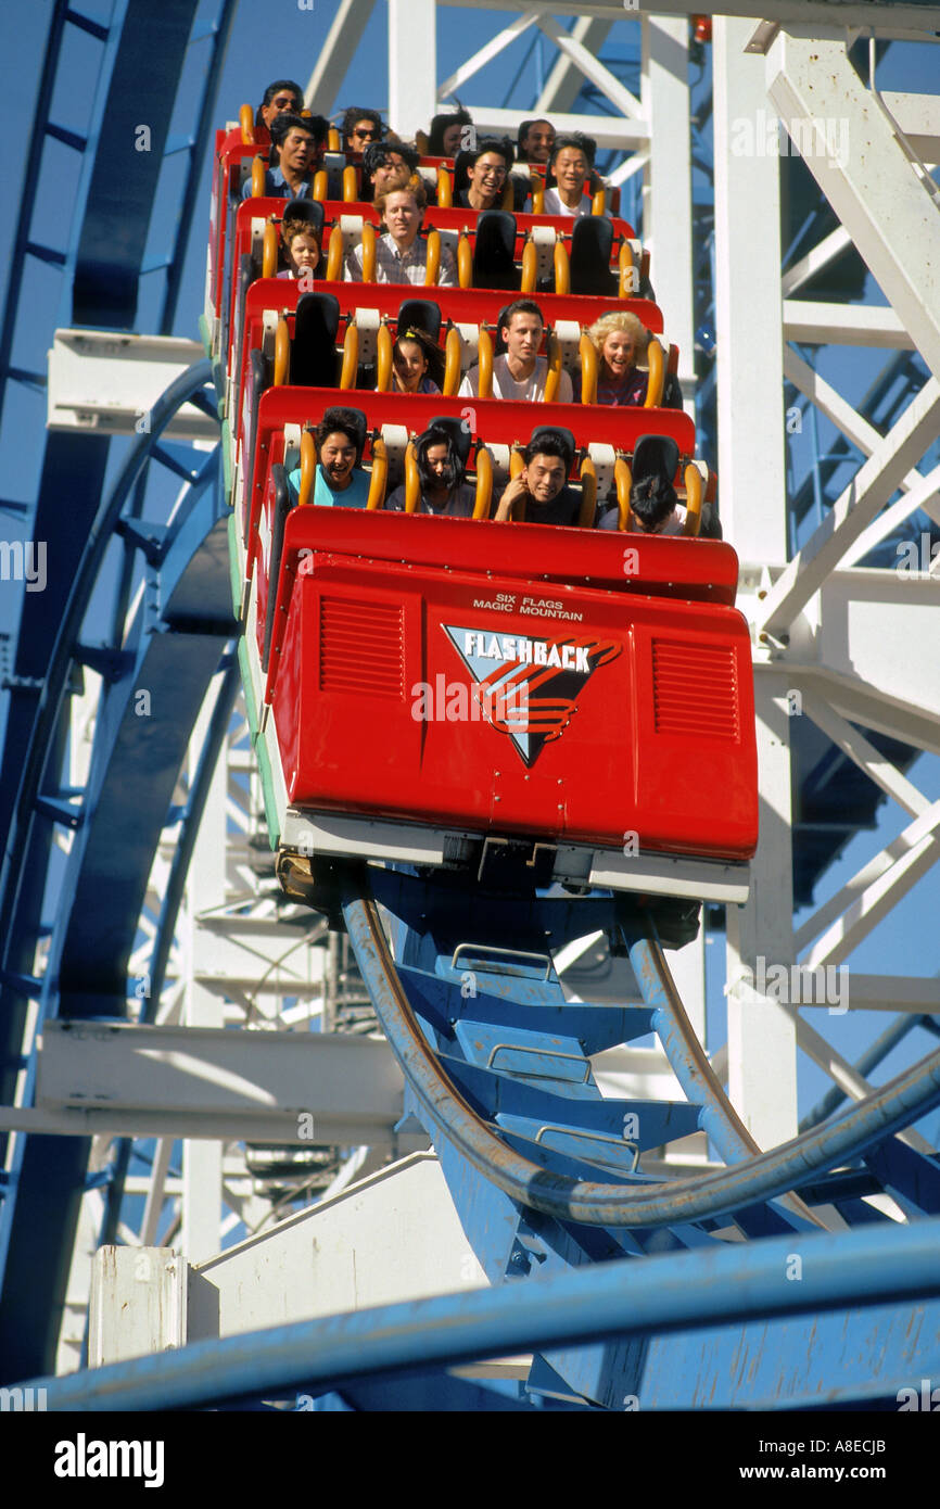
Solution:
M 735 122 L 766 112 L 763 62 L 745 53 L 753 27 L 715 17 L 715 306 L 718 475 L 724 533 L 744 561 L 786 560 L 780 183 L 774 158 L 735 155 Z M 745 907 L 729 908 L 727 978 L 757 958 L 789 964 L 792 813 L 786 694 L 754 667 L 760 844 Z M 777 1003 L 727 1003 L 729 1094 L 762 1148 L 797 1135 L 795 1025 Z

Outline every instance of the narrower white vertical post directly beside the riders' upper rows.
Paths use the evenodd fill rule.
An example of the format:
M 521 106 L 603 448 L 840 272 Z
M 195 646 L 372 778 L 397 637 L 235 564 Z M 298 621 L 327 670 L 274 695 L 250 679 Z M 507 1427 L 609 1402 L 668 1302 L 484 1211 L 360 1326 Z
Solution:
M 679 347 L 679 380 L 691 404 L 696 389 L 696 321 L 685 17 L 643 18 L 641 97 L 650 133 L 643 186 L 643 240 L 653 257 L 656 300 L 664 311 L 670 341 Z

